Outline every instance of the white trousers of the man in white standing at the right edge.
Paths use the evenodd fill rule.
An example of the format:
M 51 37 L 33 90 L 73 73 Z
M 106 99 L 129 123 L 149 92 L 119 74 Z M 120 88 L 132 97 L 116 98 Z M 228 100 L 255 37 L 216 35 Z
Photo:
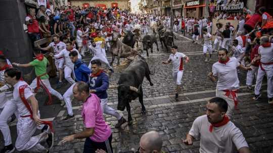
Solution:
M 261 83 L 262 83 L 262 79 L 263 76 L 266 75 L 267 77 L 267 97 L 268 98 L 272 98 L 273 97 L 273 65 L 263 65 L 262 67 L 264 69 L 264 71 L 261 70 L 261 68 L 259 67 L 258 70 L 258 77 L 257 77 L 257 81 L 256 81 L 256 86 L 259 83 L 259 85 L 255 86 L 255 94 L 259 94 L 260 93 L 260 89 L 261 87 Z

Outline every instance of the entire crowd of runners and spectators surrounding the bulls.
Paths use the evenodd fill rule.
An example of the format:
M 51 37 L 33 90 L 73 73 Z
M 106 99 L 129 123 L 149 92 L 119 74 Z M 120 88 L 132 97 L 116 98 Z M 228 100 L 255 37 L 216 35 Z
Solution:
M 29 9 L 26 24 L 35 60 L 26 64 L 11 63 L 0 53 L 0 130 L 5 141 L 1 152 L 13 152 L 15 148 L 19 151 L 50 152 L 54 145 L 54 128 L 52 122 L 40 119 L 35 98 L 35 92 L 40 87 L 49 95 L 48 104 L 52 103 L 51 95 L 55 95 L 60 99 L 61 106 L 66 105 L 68 115 L 63 121 L 75 118 L 73 97 L 82 101 L 81 115 L 85 128 L 82 132 L 64 137 L 62 143 L 86 138 L 83 152 L 113 152 L 112 131 L 103 114 L 117 119 L 115 128 L 119 128 L 126 120 L 107 105 L 109 78 L 102 63 L 114 73 L 106 57 L 111 49 L 112 33 L 118 33 L 119 39 L 122 39 L 126 33 L 135 32 L 135 29 L 146 35 L 150 32 L 149 27 L 157 31 L 160 25 L 166 30 L 173 28 L 174 32 L 193 35 L 194 42 L 203 42 L 205 62 L 211 60 L 213 52 L 217 52 L 219 58 L 208 74 L 210 80 L 217 81 L 216 97 L 208 101 L 206 115 L 193 122 L 187 137 L 182 138 L 183 142 L 192 145 L 194 139 L 200 139 L 200 152 L 233 152 L 233 146 L 240 153 L 250 152 L 242 132 L 230 121 L 238 105 L 238 73 L 240 70 L 247 71 L 246 84 L 249 89 L 252 89 L 253 81 L 256 80 L 254 100 L 261 96 L 261 84 L 266 76 L 268 104 L 273 104 L 273 19 L 265 8 L 257 9 L 248 18 L 243 14 L 238 18 L 238 27 L 230 23 L 217 23 L 217 30 L 212 33 L 212 22 L 206 18 L 174 17 L 171 22 L 168 16 L 133 14 L 118 8 L 104 10 L 72 6 L 57 7 L 52 11 L 40 5 L 38 11 Z M 35 47 L 34 41 L 48 33 L 53 35 L 53 42 L 48 46 Z M 215 35 L 214 43 L 212 35 Z M 57 88 L 63 87 L 64 79 L 71 85 L 64 94 L 53 89 L 49 81 L 49 61 L 43 53 L 50 48 L 54 50 L 50 56 L 55 59 L 58 71 Z M 173 79 L 177 86 L 176 99 L 183 85 L 183 60 L 186 59 L 186 63 L 190 61 L 188 56 L 178 50 L 176 45 L 171 46 L 169 59 L 162 61 L 162 64 L 172 63 Z M 86 54 L 93 56 L 88 66 L 81 61 Z M 28 85 L 16 67 L 33 67 L 36 78 Z M 14 146 L 8 124 L 15 118 L 18 122 Z M 40 129 L 41 133 L 33 136 L 36 129 Z M 42 141 L 47 142 L 46 146 L 40 144 Z M 161 136 L 156 131 L 144 134 L 138 151 L 164 152 Z

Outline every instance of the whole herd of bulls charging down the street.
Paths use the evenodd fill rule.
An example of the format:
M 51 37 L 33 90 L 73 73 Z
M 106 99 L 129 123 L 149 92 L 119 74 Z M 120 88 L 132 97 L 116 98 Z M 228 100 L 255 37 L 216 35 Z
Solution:
M 117 88 L 118 89 L 118 106 L 117 109 L 120 111 L 124 111 L 125 108 L 128 112 L 128 125 L 132 124 L 132 117 L 130 113 L 130 102 L 131 100 L 136 99 L 139 97 L 139 101 L 142 106 L 142 113 L 146 113 L 145 106 L 143 104 L 143 88 L 142 83 L 144 77 L 148 79 L 150 85 L 153 86 L 151 82 L 150 74 L 151 71 L 149 69 L 149 65 L 145 58 L 141 56 L 143 50 L 146 50 L 147 57 L 149 56 L 148 49 L 151 49 L 151 53 L 153 53 L 153 43 L 157 45 L 157 34 L 163 48 L 163 44 L 169 52 L 170 46 L 173 43 L 173 38 L 177 39 L 171 30 L 166 30 L 163 26 L 159 26 L 157 31 L 154 31 L 153 34 L 146 34 L 141 39 L 141 34 L 127 32 L 124 36 L 123 40 L 121 41 L 119 38 L 118 33 L 112 34 L 112 45 L 111 45 L 111 54 L 112 54 L 112 61 L 111 65 L 113 65 L 115 57 L 117 57 L 117 65 L 119 65 L 120 58 L 127 58 L 130 62 L 129 66 L 121 73 L 120 78 L 118 80 L 117 85 L 109 87 Z M 142 42 L 143 49 L 137 48 L 134 49 L 135 42 L 138 41 Z M 163 42 L 163 44 L 162 44 Z M 138 44 L 137 44 L 138 46 Z

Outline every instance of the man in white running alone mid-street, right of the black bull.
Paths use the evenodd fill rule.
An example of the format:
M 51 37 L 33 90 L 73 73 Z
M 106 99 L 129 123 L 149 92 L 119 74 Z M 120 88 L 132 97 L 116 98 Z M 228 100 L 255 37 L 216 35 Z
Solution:
M 162 61 L 162 64 L 170 64 L 172 62 L 172 76 L 176 83 L 176 93 L 175 100 L 178 101 L 178 93 L 181 90 L 181 80 L 183 77 L 183 58 L 186 59 L 186 63 L 189 62 L 190 58 L 183 53 L 177 52 L 177 46 L 173 45 L 171 47 L 171 55 L 167 61 Z

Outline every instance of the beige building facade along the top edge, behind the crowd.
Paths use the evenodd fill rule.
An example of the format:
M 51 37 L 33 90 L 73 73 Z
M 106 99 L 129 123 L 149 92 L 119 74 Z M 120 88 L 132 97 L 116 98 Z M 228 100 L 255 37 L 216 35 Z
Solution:
M 129 0 L 116 0 L 116 1 L 82 1 L 82 0 L 70 0 L 69 1 L 72 6 L 80 6 L 83 7 L 83 5 L 88 4 L 89 6 L 97 6 L 97 5 L 105 5 L 106 8 L 112 8 L 113 6 L 116 6 L 122 10 L 130 10 L 130 2 Z

